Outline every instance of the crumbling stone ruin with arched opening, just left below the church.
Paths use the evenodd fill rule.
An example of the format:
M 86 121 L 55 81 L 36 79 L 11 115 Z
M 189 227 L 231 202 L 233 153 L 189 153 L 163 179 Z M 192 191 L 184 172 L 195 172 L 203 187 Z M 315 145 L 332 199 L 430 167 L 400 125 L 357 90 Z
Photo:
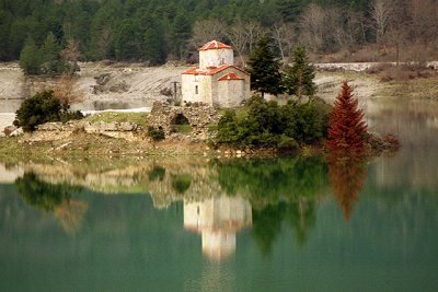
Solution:
M 155 129 L 162 129 L 170 135 L 176 120 L 183 116 L 192 127 L 192 133 L 207 133 L 209 124 L 218 124 L 220 114 L 211 105 L 193 103 L 189 106 L 172 106 L 165 102 L 153 103 L 151 114 L 148 117 L 148 125 Z

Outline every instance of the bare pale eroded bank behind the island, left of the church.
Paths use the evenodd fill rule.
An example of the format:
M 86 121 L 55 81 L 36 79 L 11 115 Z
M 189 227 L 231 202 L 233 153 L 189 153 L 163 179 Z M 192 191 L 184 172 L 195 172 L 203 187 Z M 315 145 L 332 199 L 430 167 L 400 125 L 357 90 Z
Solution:
M 160 91 L 173 89 L 172 82 L 180 82 L 180 74 L 186 69 L 103 62 L 87 62 L 80 67 L 77 87 L 84 102 L 77 108 L 82 110 L 151 106 L 154 100 L 172 97 Z M 25 78 L 18 63 L 0 65 L 0 113 L 15 112 L 26 96 L 51 89 L 57 83 L 53 78 Z

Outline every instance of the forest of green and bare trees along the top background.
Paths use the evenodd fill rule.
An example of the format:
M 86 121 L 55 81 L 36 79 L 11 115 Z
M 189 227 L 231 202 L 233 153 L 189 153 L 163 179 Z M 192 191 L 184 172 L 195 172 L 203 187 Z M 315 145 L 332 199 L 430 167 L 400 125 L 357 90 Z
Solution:
M 302 45 L 313 61 L 422 62 L 437 58 L 438 1 L 0 0 L 0 61 L 74 44 L 82 61 L 196 62 L 218 39 L 245 65 L 263 34 L 284 59 Z

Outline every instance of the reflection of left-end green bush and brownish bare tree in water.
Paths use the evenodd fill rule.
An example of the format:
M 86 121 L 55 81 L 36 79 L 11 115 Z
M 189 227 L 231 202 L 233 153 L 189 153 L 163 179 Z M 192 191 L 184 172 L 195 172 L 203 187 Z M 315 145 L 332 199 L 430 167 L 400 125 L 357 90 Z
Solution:
M 73 233 L 78 230 L 88 209 L 87 202 L 71 199 L 73 192 L 81 190 L 80 187 L 48 184 L 34 173 L 25 173 L 15 184 L 26 203 L 45 212 L 55 212 L 66 232 Z

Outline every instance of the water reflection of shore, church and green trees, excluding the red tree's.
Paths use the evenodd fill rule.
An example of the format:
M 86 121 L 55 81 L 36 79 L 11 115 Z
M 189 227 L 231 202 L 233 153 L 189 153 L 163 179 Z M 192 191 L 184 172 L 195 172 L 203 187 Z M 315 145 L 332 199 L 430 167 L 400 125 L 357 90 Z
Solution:
M 150 194 L 159 209 L 184 201 L 184 227 L 201 235 L 203 254 L 211 259 L 233 254 L 237 233 L 252 225 L 265 255 L 284 225 L 303 246 L 315 222 L 315 206 L 327 192 L 327 166 L 321 157 L 182 163 L 184 167 L 153 161 L 103 173 L 28 164 L 16 186 L 27 203 L 55 213 L 68 233 L 79 230 L 88 211 L 87 202 L 73 196 L 82 188 L 113 194 L 123 186 L 125 192 Z

